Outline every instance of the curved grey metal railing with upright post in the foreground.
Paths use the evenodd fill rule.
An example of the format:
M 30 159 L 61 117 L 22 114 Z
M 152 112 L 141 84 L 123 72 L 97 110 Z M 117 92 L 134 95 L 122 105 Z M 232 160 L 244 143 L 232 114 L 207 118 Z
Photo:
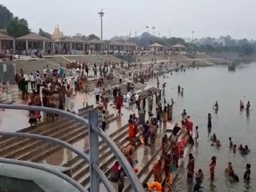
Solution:
M 107 146 L 112 149 L 113 153 L 116 155 L 116 158 L 119 160 L 122 168 L 126 172 L 128 179 L 130 180 L 130 184 L 132 185 L 133 191 L 135 192 L 143 192 L 144 189 L 141 185 L 140 180 L 138 179 L 137 175 L 133 171 L 132 166 L 130 166 L 129 162 L 127 162 L 126 157 L 124 154 L 118 149 L 115 142 L 111 140 L 108 135 L 103 132 L 101 129 L 98 128 L 98 112 L 96 110 L 91 110 L 89 112 L 89 118 L 84 119 L 81 116 L 74 115 L 73 113 L 65 112 L 62 110 L 58 110 L 55 108 L 48 108 L 48 107 L 38 107 L 38 106 L 30 106 L 30 105 L 8 105 L 8 104 L 0 104 L 0 108 L 7 108 L 7 109 L 16 109 L 16 110 L 30 110 L 30 111 L 40 111 L 46 113 L 52 113 L 56 115 L 62 115 L 69 117 L 71 119 L 76 120 L 77 122 L 84 124 L 89 128 L 89 139 L 90 139 L 90 154 L 87 155 L 84 152 L 74 148 L 71 144 L 68 144 L 64 141 L 58 140 L 57 138 L 46 137 L 42 135 L 35 135 L 31 133 L 18 133 L 18 132 L 0 132 L 0 135 L 8 136 L 8 137 L 24 137 L 24 138 L 34 138 L 38 140 L 48 141 L 54 144 L 58 144 L 64 148 L 71 150 L 72 152 L 76 153 L 79 157 L 83 158 L 85 162 L 88 162 L 90 165 L 90 191 L 99 192 L 99 183 L 102 182 L 107 189 L 108 192 L 115 191 L 112 187 L 112 184 L 108 181 L 107 177 L 105 176 L 104 172 L 101 171 L 99 168 L 99 137 L 105 141 Z M 0 162 L 3 158 L 0 158 Z M 6 162 L 10 162 L 16 164 L 15 160 Z M 23 163 L 23 166 L 30 166 L 33 165 L 29 164 L 28 162 Z M 37 167 L 40 169 L 39 167 Z M 44 169 L 43 171 L 48 171 Z M 62 179 L 65 179 L 69 183 L 71 183 L 74 187 L 78 190 L 85 192 L 84 187 L 82 187 L 79 183 L 74 181 L 73 179 L 66 179 L 65 176 L 61 176 L 60 174 L 56 174 L 55 171 L 51 172 Z M 72 180 L 72 181 L 71 181 Z M 82 187 L 82 188 L 81 188 Z

